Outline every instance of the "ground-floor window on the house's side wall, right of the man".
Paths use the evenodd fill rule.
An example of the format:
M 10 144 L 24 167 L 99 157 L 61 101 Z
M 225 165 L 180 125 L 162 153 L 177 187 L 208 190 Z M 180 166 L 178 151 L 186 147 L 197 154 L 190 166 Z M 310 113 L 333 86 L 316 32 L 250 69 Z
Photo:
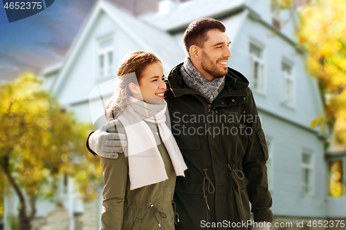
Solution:
M 302 195 L 313 195 L 312 153 L 302 152 Z

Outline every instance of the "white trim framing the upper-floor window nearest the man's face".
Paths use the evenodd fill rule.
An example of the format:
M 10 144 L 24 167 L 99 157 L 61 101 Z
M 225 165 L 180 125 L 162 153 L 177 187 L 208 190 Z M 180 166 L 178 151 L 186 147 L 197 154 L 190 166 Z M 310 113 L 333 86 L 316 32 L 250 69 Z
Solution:
M 250 46 L 251 44 L 259 47 L 262 49 L 262 58 L 256 57 L 256 55 L 254 55 L 253 53 L 251 53 L 250 50 Z M 262 95 L 265 94 L 266 88 L 265 88 L 265 49 L 264 46 L 262 44 L 260 44 L 257 41 L 254 41 L 254 39 L 250 39 L 250 41 L 248 42 L 248 54 L 250 56 L 250 84 L 251 84 L 251 89 L 255 92 L 255 93 L 260 93 Z M 254 68 L 253 68 L 253 63 L 257 61 L 257 63 L 260 65 L 260 76 L 259 76 L 259 81 L 257 82 L 257 84 L 260 84 L 259 88 L 255 88 L 255 78 L 254 78 Z

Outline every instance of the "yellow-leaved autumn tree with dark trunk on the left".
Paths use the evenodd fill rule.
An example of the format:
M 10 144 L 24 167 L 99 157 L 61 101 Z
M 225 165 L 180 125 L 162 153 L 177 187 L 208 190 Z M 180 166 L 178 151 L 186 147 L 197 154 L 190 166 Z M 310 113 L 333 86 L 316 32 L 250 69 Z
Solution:
M 21 230 L 31 229 L 36 200 L 53 195 L 57 175 L 66 173 L 82 194 L 95 194 L 91 182 L 102 180 L 102 169 L 85 147 L 90 124 L 78 123 L 30 73 L 1 85 L 0 100 L 0 186 L 19 199 Z

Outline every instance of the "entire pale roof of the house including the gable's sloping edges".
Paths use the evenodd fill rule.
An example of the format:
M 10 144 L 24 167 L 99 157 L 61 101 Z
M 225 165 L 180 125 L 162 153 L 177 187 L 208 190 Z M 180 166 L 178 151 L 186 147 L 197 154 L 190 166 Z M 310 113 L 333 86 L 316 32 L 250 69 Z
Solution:
M 161 61 L 163 61 L 163 68 L 165 72 L 168 72 L 170 68 L 179 64 L 185 59 L 185 50 L 179 46 L 178 42 L 174 40 L 174 37 L 167 32 L 172 28 L 185 29 L 191 21 L 201 17 L 213 17 L 213 15 L 230 14 L 230 10 L 242 8 L 246 0 L 217 0 L 218 3 L 210 3 L 207 0 L 190 1 L 177 6 L 177 8 L 170 12 L 170 14 L 185 15 L 185 17 L 167 17 L 167 15 L 161 15 L 155 12 L 154 14 L 147 15 L 146 17 L 134 17 L 129 12 L 112 2 L 103 0 L 98 1 L 93 7 L 91 14 L 84 23 L 82 30 L 76 37 L 73 45 L 71 46 L 68 54 L 64 58 L 64 61 L 57 66 L 52 66 L 44 71 L 44 75 L 51 73 L 52 71 L 60 70 L 60 74 L 55 79 L 55 83 L 52 85 L 55 95 L 60 93 L 64 79 L 69 73 L 69 68 L 75 59 L 75 55 L 82 48 L 86 35 L 91 30 L 94 21 L 97 19 L 97 15 L 100 12 L 105 12 L 120 29 L 127 32 L 127 34 L 136 41 L 136 43 L 143 50 L 154 52 Z M 193 8 L 193 10 L 192 10 Z M 235 10 L 237 12 L 237 10 Z M 233 21 L 233 29 L 228 31 L 228 36 L 233 39 L 239 28 L 239 24 L 242 21 L 241 15 L 235 14 L 233 17 L 228 17 L 228 20 Z M 154 23 L 155 22 L 155 23 Z M 182 27 L 183 26 L 183 27 Z M 165 28 L 165 29 L 164 29 Z

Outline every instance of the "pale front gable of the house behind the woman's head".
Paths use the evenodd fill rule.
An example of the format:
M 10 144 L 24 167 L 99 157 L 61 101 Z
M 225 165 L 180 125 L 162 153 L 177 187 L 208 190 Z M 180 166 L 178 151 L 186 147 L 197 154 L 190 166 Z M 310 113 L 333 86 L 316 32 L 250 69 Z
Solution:
M 185 57 L 181 47 L 166 32 L 139 21 L 108 1 L 99 1 L 75 39 L 53 84 L 53 92 L 62 104 L 86 100 L 86 92 L 107 80 L 97 79 L 98 73 L 95 70 L 98 61 L 95 53 L 98 45 L 96 41 L 107 35 L 115 38 L 113 68 L 116 68 L 125 54 L 135 50 L 154 52 L 163 61 L 165 73 Z M 113 92 L 107 95 L 111 93 Z

